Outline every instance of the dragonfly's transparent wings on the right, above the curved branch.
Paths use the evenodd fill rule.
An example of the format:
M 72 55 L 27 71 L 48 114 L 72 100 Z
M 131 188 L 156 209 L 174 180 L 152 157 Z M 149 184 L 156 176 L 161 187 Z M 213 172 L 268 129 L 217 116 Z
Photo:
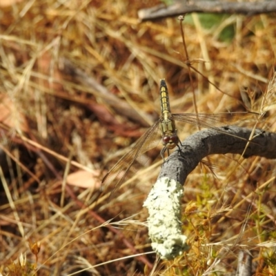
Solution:
M 184 123 L 199 126 L 201 128 L 210 128 L 219 132 L 224 132 L 219 129 L 220 126 L 235 125 L 244 123 L 246 121 L 257 121 L 258 113 L 255 112 L 227 112 L 217 114 L 203 114 L 203 113 L 179 113 L 172 114 L 172 118 L 176 121 L 183 121 Z M 227 132 L 224 132 L 228 134 Z

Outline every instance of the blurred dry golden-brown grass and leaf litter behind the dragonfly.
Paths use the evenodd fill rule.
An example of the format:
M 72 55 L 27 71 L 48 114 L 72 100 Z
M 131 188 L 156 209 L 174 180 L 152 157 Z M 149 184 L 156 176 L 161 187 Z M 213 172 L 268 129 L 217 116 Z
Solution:
M 275 275 L 273 160 L 211 157 L 215 175 L 198 166 L 183 197 L 191 248 L 170 262 L 151 252 L 142 208 L 160 148 L 110 201 L 110 190 L 99 191 L 157 119 L 159 79 L 172 112 L 195 112 L 179 21 L 139 23 L 137 11 L 158 1 L 17 2 L 0 10 L 0 272 L 230 275 L 243 248 L 255 275 Z M 183 24 L 193 66 L 223 91 L 193 72 L 198 111 L 244 111 L 241 86 L 258 111 L 275 60 L 275 14 L 193 14 Z M 266 106 L 259 127 L 275 131 L 275 101 Z M 179 126 L 179 135 L 196 130 Z

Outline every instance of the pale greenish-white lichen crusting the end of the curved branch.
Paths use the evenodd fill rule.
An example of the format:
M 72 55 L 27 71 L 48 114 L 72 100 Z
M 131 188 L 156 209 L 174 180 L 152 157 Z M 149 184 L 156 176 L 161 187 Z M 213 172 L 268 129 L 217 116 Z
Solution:
M 179 182 L 162 177 L 150 190 L 144 207 L 148 208 L 148 235 L 152 248 L 161 259 L 173 259 L 189 249 L 187 237 L 181 235 L 181 197 Z

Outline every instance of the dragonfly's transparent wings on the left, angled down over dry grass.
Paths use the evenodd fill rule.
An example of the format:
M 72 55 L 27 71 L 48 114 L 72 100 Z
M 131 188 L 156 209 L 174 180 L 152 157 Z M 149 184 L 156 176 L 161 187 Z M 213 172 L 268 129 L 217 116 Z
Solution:
M 108 186 L 114 187 L 112 193 L 115 190 L 118 190 L 121 184 L 124 182 L 124 179 L 132 165 L 135 164 L 135 160 L 139 159 L 141 164 L 145 164 L 147 158 L 143 158 L 142 155 L 148 150 L 155 148 L 161 139 L 159 132 L 159 121 L 157 121 L 153 126 L 151 126 L 145 133 L 142 135 L 134 146 L 126 153 L 119 161 L 111 168 L 111 170 L 106 174 L 101 182 L 103 189 L 106 189 Z M 112 195 L 112 193 L 110 195 Z

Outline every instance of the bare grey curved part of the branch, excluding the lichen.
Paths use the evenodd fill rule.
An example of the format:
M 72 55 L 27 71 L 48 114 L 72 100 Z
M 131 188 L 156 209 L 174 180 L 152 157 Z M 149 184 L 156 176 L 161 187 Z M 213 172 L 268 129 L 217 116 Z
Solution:
M 159 177 L 169 177 L 184 184 L 188 174 L 208 155 L 237 153 L 242 155 L 246 148 L 251 131 L 248 128 L 226 126 L 221 128 L 229 135 L 215 130 L 201 130 L 188 137 L 179 150 L 164 162 Z M 239 137 L 243 138 L 240 139 Z M 243 157 L 261 156 L 268 159 L 276 158 L 276 133 L 255 130 L 254 139 L 244 152 Z

